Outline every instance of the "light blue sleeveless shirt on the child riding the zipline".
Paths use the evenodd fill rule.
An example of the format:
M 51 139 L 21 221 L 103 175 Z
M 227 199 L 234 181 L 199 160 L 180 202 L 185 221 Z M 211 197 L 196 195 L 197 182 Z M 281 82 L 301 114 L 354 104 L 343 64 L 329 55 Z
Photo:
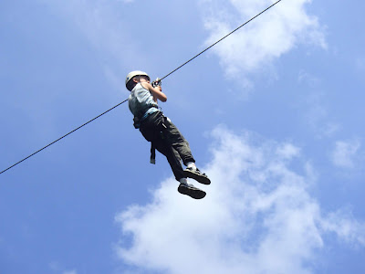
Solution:
M 145 118 L 145 114 L 149 115 L 159 111 L 158 105 L 153 100 L 151 92 L 144 89 L 141 83 L 138 83 L 133 90 L 130 91 L 128 105 L 130 107 L 130 112 L 140 119 Z

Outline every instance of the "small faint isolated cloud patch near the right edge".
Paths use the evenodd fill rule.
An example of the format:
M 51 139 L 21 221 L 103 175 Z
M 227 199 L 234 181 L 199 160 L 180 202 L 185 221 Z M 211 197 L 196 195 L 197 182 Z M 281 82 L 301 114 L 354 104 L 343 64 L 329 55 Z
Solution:
M 339 167 L 353 168 L 355 167 L 355 158 L 360 149 L 360 141 L 352 140 L 348 142 L 338 141 L 331 154 L 332 163 Z

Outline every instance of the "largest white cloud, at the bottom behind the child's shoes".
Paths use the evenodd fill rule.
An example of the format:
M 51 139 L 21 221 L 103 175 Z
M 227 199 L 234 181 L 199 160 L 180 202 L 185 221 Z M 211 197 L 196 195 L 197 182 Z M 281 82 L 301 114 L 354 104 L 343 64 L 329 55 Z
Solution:
M 360 221 L 324 214 L 310 196 L 315 176 L 299 148 L 224 127 L 213 137 L 213 160 L 204 168 L 213 183 L 203 187 L 203 200 L 179 195 L 170 178 L 150 204 L 116 216 L 125 263 L 176 274 L 311 273 L 326 233 L 365 244 Z M 293 162 L 302 170 L 291 170 Z

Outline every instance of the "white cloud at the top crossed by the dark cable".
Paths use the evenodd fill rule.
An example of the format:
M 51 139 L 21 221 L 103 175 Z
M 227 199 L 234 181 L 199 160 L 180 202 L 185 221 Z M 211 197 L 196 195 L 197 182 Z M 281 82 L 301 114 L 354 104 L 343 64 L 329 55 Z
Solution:
M 274 2 L 202 0 L 204 26 L 210 32 L 206 44 L 213 44 Z M 214 46 L 226 74 L 246 79 L 247 73 L 269 67 L 276 58 L 299 44 L 326 48 L 323 26 L 305 9 L 310 2 L 282 1 Z

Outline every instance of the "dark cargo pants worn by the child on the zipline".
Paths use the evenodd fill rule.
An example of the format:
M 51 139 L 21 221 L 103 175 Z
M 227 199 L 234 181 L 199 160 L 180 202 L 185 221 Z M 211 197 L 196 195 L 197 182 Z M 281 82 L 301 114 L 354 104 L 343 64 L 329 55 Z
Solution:
M 186 165 L 189 162 L 195 163 L 195 160 L 189 143 L 172 121 L 158 111 L 141 122 L 140 131 L 157 151 L 166 156 L 175 179 L 179 181 L 186 177 L 183 174 L 182 161 Z

